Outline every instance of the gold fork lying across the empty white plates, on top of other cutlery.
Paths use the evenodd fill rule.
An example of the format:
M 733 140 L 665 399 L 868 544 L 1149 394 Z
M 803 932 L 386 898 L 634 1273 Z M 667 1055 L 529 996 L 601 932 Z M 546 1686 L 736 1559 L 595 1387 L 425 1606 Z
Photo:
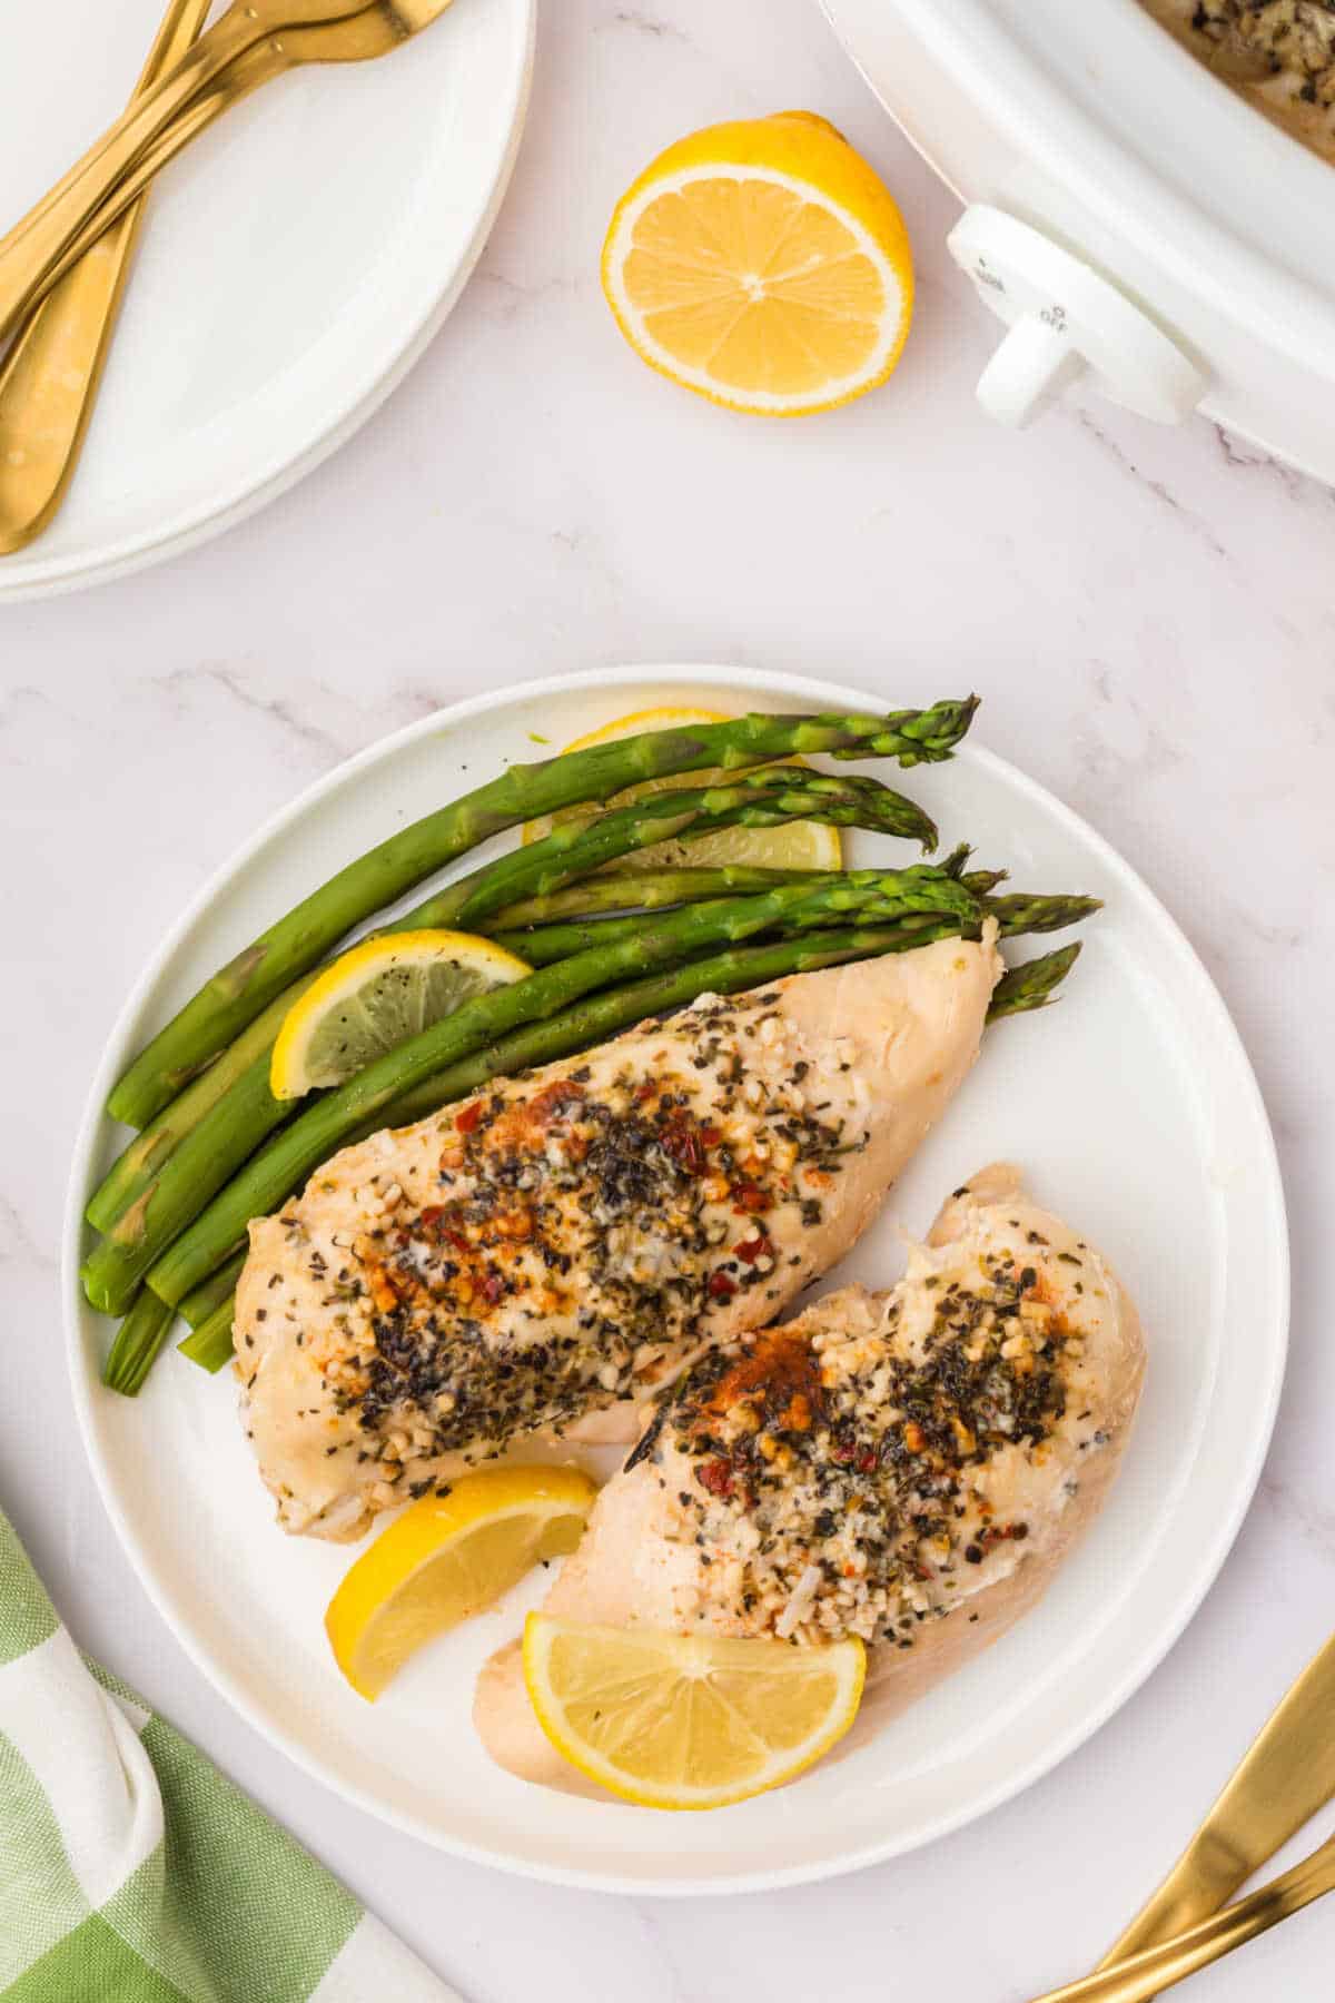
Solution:
M 384 56 L 430 28 L 448 4 L 234 0 L 176 68 L 0 238 L 0 341 L 144 192 L 152 176 L 240 96 L 302 62 Z

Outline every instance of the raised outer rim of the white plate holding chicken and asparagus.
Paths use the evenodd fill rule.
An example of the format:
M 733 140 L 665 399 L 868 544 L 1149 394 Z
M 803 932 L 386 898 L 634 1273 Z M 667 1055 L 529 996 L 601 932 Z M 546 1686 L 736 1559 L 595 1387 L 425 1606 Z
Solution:
M 502 691 L 500 701 L 508 707 L 510 703 L 524 703 L 536 695 L 542 697 L 562 697 L 570 693 L 582 693 L 586 689 L 626 689 L 642 683 L 654 681 L 677 681 L 685 685 L 717 685 L 719 681 L 729 681 L 737 689 L 749 689 L 757 693 L 769 693 L 793 697 L 801 701 L 813 701 L 821 709 L 847 705 L 853 711 L 881 713 L 885 705 L 883 695 L 873 695 L 865 689 L 853 689 L 843 683 L 829 683 L 809 675 L 793 675 L 785 671 L 769 671 L 757 667 L 741 667 L 729 663 L 628 663 L 620 667 L 592 667 L 574 669 L 554 675 L 536 675 L 526 681 L 514 683 Z M 835 1877 L 845 1877 L 853 1871 L 863 1871 L 879 1863 L 889 1863 L 895 1857 L 911 1855 L 913 1851 L 925 1849 L 929 1843 L 937 1843 L 941 1837 L 953 1835 L 959 1829 L 969 1827 L 993 1809 L 1017 1799 L 1027 1789 L 1031 1789 L 1045 1775 L 1053 1773 L 1065 1759 L 1069 1759 L 1079 1747 L 1083 1747 L 1097 1731 L 1101 1731 L 1109 1719 L 1117 1715 L 1135 1697 L 1135 1693 L 1149 1681 L 1149 1677 L 1167 1658 L 1171 1648 L 1183 1636 L 1185 1628 L 1191 1624 L 1201 1608 L 1207 1592 L 1215 1584 L 1225 1558 L 1229 1556 L 1243 1520 L 1251 1508 L 1261 1470 L 1269 1452 L 1271 1436 L 1275 1430 L 1275 1418 L 1279 1412 L 1279 1398 L 1285 1382 L 1287 1354 L 1289 1354 L 1289 1308 L 1291 1308 L 1291 1258 L 1289 1258 L 1289 1224 L 1287 1224 L 1287 1202 L 1283 1188 L 1283 1174 L 1279 1168 L 1279 1154 L 1275 1146 L 1275 1136 L 1261 1094 L 1259 1080 L 1247 1056 L 1247 1048 L 1241 1040 L 1237 1024 L 1219 993 L 1205 961 L 1197 953 L 1195 945 L 1181 929 L 1173 913 L 1159 899 L 1153 887 L 1141 877 L 1141 873 L 1107 841 L 1089 821 L 1083 819 L 1073 807 L 1051 793 L 1037 779 L 1031 779 L 1021 767 L 1003 759 L 999 753 L 989 751 L 985 745 L 973 743 L 971 739 L 961 745 L 961 757 L 979 761 L 999 777 L 1017 785 L 1027 797 L 1039 801 L 1045 811 L 1053 813 L 1063 821 L 1073 833 L 1089 841 L 1101 859 L 1115 871 L 1129 877 L 1139 893 L 1149 901 L 1155 917 L 1163 923 L 1167 943 L 1181 957 L 1187 973 L 1195 979 L 1199 999 L 1213 1012 L 1215 1028 L 1221 1032 L 1225 1046 L 1237 1066 L 1237 1084 L 1249 1102 L 1249 1112 L 1255 1120 L 1257 1140 L 1261 1144 L 1261 1154 L 1257 1160 L 1257 1170 L 1261 1178 L 1261 1198 L 1265 1202 L 1265 1230 L 1273 1246 L 1273 1288 L 1275 1298 L 1271 1302 L 1267 1322 L 1273 1322 L 1273 1342 L 1269 1346 L 1269 1382 L 1257 1386 L 1263 1396 L 1257 1400 L 1257 1422 L 1253 1426 L 1251 1452 L 1245 1466 L 1239 1470 L 1235 1466 L 1235 1486 L 1231 1490 L 1231 1504 L 1227 1510 L 1219 1510 L 1215 1516 L 1213 1540 L 1197 1546 L 1197 1558 L 1191 1574 L 1191 1584 L 1187 1592 L 1175 1602 L 1175 1610 L 1165 1616 L 1155 1628 L 1153 1636 L 1137 1648 L 1133 1660 L 1125 1673 L 1115 1679 L 1111 1689 L 1105 1693 L 1103 1701 L 1089 1707 L 1065 1733 L 1057 1735 L 1049 1745 L 1043 1747 L 1025 1767 L 1017 1773 L 1007 1775 L 995 1787 L 991 1787 L 981 1797 L 969 1801 L 959 1809 L 947 1809 L 935 1819 L 927 1821 L 925 1827 L 905 1835 L 887 1835 L 875 1843 L 863 1843 L 847 1855 L 835 1859 L 819 1859 L 813 1863 L 799 1863 L 789 1867 L 737 1871 L 727 1875 L 711 1877 L 689 1877 L 689 1879 L 650 1879 L 650 1877 L 620 1877 L 606 1871 L 590 1871 L 566 1865 L 540 1865 L 524 1857 L 504 1855 L 482 1843 L 446 1835 L 440 1829 L 432 1829 L 416 1815 L 396 1811 L 376 1801 L 362 1787 L 344 1781 L 342 1777 L 330 1775 L 330 1771 L 308 1753 L 300 1741 L 292 1739 L 276 1723 L 272 1723 L 262 1711 L 258 1711 L 246 1693 L 236 1685 L 232 1675 L 218 1664 L 208 1650 L 196 1642 L 192 1630 L 178 1622 L 174 1612 L 168 1608 L 166 1592 L 160 1590 L 148 1548 L 136 1536 L 130 1526 L 118 1492 L 112 1484 L 112 1470 L 104 1462 L 100 1452 L 96 1418 L 94 1418 L 94 1396 L 102 1394 L 100 1380 L 94 1370 L 88 1368 L 88 1346 L 82 1330 L 82 1296 L 78 1270 L 82 1260 L 82 1240 L 84 1240 L 84 1204 L 92 1188 L 92 1162 L 96 1158 L 96 1146 L 100 1138 L 100 1126 L 104 1118 L 104 1102 L 114 1078 L 122 1070 L 124 1054 L 130 1048 L 130 1040 L 136 1036 L 136 1024 L 150 995 L 150 989 L 160 977 L 166 961 L 184 943 L 192 927 L 206 917 L 212 901 L 228 887 L 234 875 L 244 871 L 254 857 L 276 837 L 280 837 L 296 819 L 318 807 L 328 795 L 336 793 L 340 787 L 356 781 L 360 773 L 374 767 L 384 759 L 392 759 L 400 749 L 416 743 L 422 737 L 430 737 L 442 729 L 456 729 L 460 723 L 468 723 L 472 717 L 486 715 L 496 707 L 496 693 L 484 691 L 478 695 L 462 697 L 456 703 L 448 703 L 442 709 L 432 711 L 426 717 L 404 725 L 398 731 L 390 731 L 386 737 L 374 739 L 352 757 L 342 759 L 328 773 L 316 779 L 310 787 L 296 795 L 296 799 L 286 801 L 276 813 L 272 813 L 254 835 L 242 841 L 226 861 L 214 869 L 202 889 L 188 901 L 178 919 L 166 929 L 154 953 L 144 961 L 140 977 L 134 981 L 130 993 L 126 995 L 112 1032 L 102 1046 L 102 1056 L 96 1064 L 88 1100 L 84 1104 L 84 1114 L 78 1124 L 78 1134 L 74 1140 L 70 1180 L 66 1190 L 66 1208 L 62 1222 L 62 1254 L 60 1254 L 60 1292 L 62 1292 L 62 1320 L 66 1332 L 66 1360 L 70 1370 L 70 1386 L 74 1396 L 74 1410 L 78 1416 L 78 1430 L 84 1454 L 92 1468 L 92 1476 L 102 1498 L 102 1506 L 120 1538 L 122 1550 L 130 1560 L 134 1574 L 148 1594 L 154 1612 L 164 1620 L 172 1638 L 186 1652 L 200 1675 L 212 1685 L 214 1691 L 230 1705 L 230 1709 L 256 1731 L 270 1747 L 290 1759 L 302 1773 L 318 1781 L 322 1787 L 330 1789 L 340 1801 L 350 1807 L 364 1811 L 376 1821 L 388 1823 L 400 1829 L 404 1835 L 416 1837 L 418 1841 L 430 1845 L 432 1849 L 444 1851 L 446 1855 L 460 1857 L 468 1863 L 488 1865 L 490 1869 L 506 1871 L 514 1877 L 530 1879 L 546 1885 L 560 1885 L 580 1891 L 600 1891 L 618 1893 L 626 1897 L 652 1897 L 652 1899 L 685 1899 L 685 1897 L 729 1897 L 733 1893 L 749 1891 L 781 1891 L 797 1885 L 811 1885 L 829 1881 Z M 1185 1490 L 1183 1490 L 1185 1492 Z M 1203 1552 L 1203 1556 L 1201 1556 Z

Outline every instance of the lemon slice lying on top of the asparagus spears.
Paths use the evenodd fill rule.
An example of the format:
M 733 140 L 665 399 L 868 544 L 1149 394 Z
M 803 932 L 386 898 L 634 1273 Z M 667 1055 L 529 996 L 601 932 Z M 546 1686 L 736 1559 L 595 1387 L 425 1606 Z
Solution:
M 462 1002 L 532 967 L 470 931 L 390 931 L 342 953 L 284 1016 L 268 1064 L 276 1100 L 342 1086 Z

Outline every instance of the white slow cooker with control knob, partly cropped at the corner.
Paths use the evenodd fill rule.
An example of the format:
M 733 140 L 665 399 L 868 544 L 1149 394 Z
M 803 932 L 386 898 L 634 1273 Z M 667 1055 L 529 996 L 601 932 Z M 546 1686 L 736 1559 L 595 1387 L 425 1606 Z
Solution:
M 1335 483 L 1335 164 L 1137 0 L 823 0 L 965 214 L 1005 322 L 979 395 L 1023 425 L 1077 377 L 1199 409 Z

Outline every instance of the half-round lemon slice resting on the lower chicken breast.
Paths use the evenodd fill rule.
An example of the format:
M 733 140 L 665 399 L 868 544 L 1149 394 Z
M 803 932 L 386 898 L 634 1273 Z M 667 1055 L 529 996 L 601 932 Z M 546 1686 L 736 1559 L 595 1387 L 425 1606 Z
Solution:
M 660 1634 L 528 1614 L 524 1683 L 556 1751 L 644 1809 L 723 1809 L 835 1745 L 863 1697 L 861 1640 Z

